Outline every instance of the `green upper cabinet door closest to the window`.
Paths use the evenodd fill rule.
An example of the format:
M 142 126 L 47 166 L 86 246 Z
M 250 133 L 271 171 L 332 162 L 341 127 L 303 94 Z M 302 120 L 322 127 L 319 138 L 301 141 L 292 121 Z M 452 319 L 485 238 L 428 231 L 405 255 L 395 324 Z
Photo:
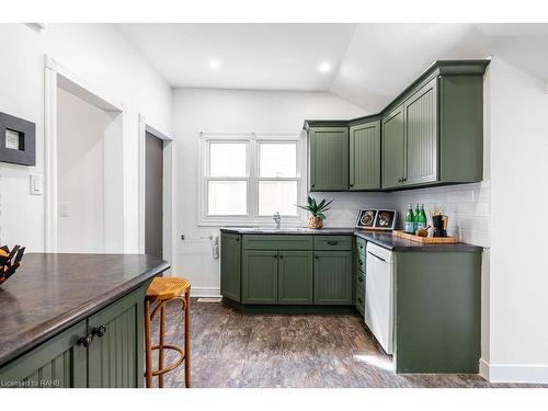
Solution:
M 347 191 L 349 128 L 313 127 L 309 148 L 310 191 Z

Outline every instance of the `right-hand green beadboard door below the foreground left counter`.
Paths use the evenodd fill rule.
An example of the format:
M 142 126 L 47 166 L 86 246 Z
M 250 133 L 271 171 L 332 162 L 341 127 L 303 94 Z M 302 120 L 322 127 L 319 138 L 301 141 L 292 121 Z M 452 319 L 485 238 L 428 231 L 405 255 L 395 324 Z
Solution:
M 88 332 L 94 334 L 88 349 L 89 387 L 142 387 L 144 300 L 140 287 L 89 318 Z M 103 335 L 96 332 L 101 327 Z

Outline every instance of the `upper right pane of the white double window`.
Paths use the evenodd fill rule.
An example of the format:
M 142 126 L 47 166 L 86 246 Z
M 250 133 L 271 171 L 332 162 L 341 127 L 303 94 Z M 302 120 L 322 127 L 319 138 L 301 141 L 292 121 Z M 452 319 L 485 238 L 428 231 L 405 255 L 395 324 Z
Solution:
M 259 146 L 259 153 L 260 176 L 297 176 L 296 142 L 262 142 Z

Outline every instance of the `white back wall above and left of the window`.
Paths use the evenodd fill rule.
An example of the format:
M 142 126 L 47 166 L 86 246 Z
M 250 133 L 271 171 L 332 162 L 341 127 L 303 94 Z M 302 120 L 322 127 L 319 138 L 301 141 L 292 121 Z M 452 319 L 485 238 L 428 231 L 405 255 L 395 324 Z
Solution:
M 219 294 L 219 264 L 202 236 L 218 228 L 197 226 L 198 134 L 295 133 L 306 118 L 352 118 L 362 109 L 322 92 L 176 89 L 173 92 L 174 264 L 192 282 L 194 295 Z M 181 235 L 185 240 L 180 239 Z

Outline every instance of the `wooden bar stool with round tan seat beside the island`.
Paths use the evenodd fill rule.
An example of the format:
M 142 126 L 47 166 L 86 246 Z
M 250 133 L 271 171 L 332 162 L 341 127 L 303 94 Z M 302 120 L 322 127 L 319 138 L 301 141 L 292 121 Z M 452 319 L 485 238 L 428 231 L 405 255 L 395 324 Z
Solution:
M 181 301 L 184 311 L 184 352 L 181 347 L 165 344 L 165 305 L 171 301 Z M 152 311 L 151 306 L 155 305 Z M 151 321 L 160 310 L 160 342 L 152 345 Z M 158 376 L 158 386 L 163 387 L 163 375 L 179 367 L 184 361 L 184 383 L 191 387 L 191 283 L 178 277 L 156 277 L 150 283 L 145 297 L 145 347 L 146 365 L 145 376 L 147 388 L 152 386 L 152 377 Z M 158 350 L 158 370 L 152 370 L 152 350 Z M 163 351 L 174 350 L 181 357 L 173 364 L 163 367 Z

